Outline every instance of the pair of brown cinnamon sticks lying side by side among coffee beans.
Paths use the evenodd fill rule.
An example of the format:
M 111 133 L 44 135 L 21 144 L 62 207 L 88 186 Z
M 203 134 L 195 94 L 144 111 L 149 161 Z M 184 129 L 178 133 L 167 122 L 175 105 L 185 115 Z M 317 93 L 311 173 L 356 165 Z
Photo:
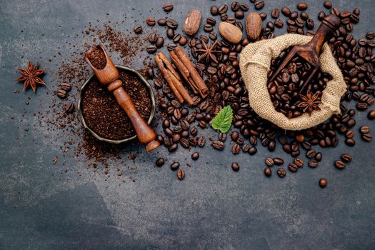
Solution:
M 190 61 L 184 49 L 177 46 L 176 49 L 169 53 L 169 57 L 171 57 L 171 61 L 173 61 L 176 69 L 179 70 L 181 75 L 187 81 L 194 94 L 199 94 L 202 98 L 206 97 L 209 89 L 199 75 L 198 71 L 196 71 L 194 64 Z M 155 56 L 155 61 L 156 65 L 161 71 L 161 74 L 163 74 L 164 79 L 166 79 L 166 82 L 169 84 L 169 87 L 174 92 L 174 95 L 179 102 L 183 103 L 186 101 L 187 104 L 192 106 L 194 104 L 193 99 L 189 95 L 188 91 L 186 91 L 179 74 L 166 56 L 161 52 Z

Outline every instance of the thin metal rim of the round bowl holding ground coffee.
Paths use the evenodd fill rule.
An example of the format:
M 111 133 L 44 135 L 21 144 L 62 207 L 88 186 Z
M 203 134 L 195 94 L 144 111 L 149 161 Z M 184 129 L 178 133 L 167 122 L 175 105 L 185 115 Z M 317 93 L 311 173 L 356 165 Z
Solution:
M 141 74 L 139 74 L 138 71 L 136 71 L 134 69 L 128 68 L 126 66 L 121 66 L 121 65 L 115 65 L 115 66 L 116 66 L 117 69 L 122 69 L 124 71 L 131 71 L 132 73 L 136 74 L 136 76 L 139 78 L 139 80 L 144 85 L 146 85 L 146 88 L 149 91 L 149 95 L 150 95 L 150 99 L 151 99 L 151 113 L 150 113 L 150 116 L 149 116 L 149 119 L 148 119 L 147 123 L 151 124 L 152 119 L 154 119 L 156 104 L 155 104 L 154 90 L 151 88 L 151 85 L 149 84 L 149 81 L 147 81 L 146 79 L 144 79 L 144 77 Z M 94 76 L 95 76 L 95 74 L 91 74 L 91 76 L 84 82 L 84 85 L 82 85 L 81 89 L 79 90 L 78 112 L 79 112 L 79 118 L 81 119 L 82 124 L 84 124 L 84 128 L 87 129 L 87 130 L 89 130 L 89 132 L 93 136 L 95 136 L 96 139 L 98 139 L 99 141 L 106 141 L 106 142 L 109 142 L 111 144 L 121 144 L 121 143 L 124 143 L 124 142 L 133 141 L 134 139 L 136 139 L 136 135 L 131 136 L 131 137 L 126 138 L 126 139 L 122 139 L 122 140 L 106 139 L 104 137 L 99 136 L 99 134 L 96 134 L 95 131 L 93 131 L 92 129 L 90 129 L 90 127 L 86 124 L 86 121 L 84 120 L 83 111 L 81 110 L 82 109 L 81 102 L 82 102 L 82 99 L 84 97 L 84 90 L 86 89 L 86 86 L 89 84 L 89 82 L 91 81 L 91 79 Z

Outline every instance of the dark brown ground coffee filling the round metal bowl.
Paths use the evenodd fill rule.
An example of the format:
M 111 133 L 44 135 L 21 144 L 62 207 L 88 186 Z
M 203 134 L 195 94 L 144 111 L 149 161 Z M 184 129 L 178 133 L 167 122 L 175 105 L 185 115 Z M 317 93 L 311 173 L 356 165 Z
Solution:
M 135 74 L 119 70 L 124 89 L 133 100 L 136 110 L 147 121 L 151 113 L 151 99 L 146 86 Z M 114 95 L 99 83 L 90 81 L 84 93 L 82 113 L 87 126 L 106 139 L 121 140 L 134 136 L 134 127 Z

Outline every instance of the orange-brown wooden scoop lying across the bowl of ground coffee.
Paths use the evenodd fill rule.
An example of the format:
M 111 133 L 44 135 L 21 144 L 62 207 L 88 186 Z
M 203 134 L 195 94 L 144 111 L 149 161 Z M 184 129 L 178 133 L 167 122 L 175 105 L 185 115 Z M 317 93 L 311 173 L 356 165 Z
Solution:
M 91 53 L 98 49 L 101 50 L 99 51 L 99 56 L 105 56 L 105 65 L 96 64 L 94 60 L 92 61 L 92 63 L 90 61 Z M 93 56 L 95 55 L 93 54 Z M 114 66 L 114 63 L 108 56 L 108 54 L 106 54 L 103 46 L 98 45 L 95 46 L 94 49 L 87 51 L 85 59 L 91 66 L 91 69 L 94 71 L 94 74 L 101 82 L 101 84 L 104 84 L 105 86 L 107 86 L 107 89 L 110 92 L 113 92 L 117 103 L 129 116 L 131 124 L 133 124 L 134 130 L 136 131 L 136 136 L 138 137 L 139 142 L 141 144 L 146 144 L 146 151 L 152 151 L 160 146 L 159 141 L 156 141 L 155 131 L 151 129 L 151 126 L 149 126 L 149 124 L 146 123 L 146 121 L 142 118 L 138 111 L 136 111 L 136 107 L 134 106 L 133 101 L 131 101 L 129 94 L 122 86 L 122 81 L 119 79 L 119 71 L 116 69 L 116 66 Z

